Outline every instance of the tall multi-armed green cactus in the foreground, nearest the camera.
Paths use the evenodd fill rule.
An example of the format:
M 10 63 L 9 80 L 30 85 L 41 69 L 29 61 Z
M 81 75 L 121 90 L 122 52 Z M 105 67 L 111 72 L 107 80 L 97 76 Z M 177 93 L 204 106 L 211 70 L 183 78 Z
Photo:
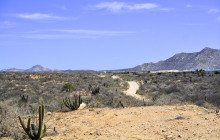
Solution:
M 42 127 L 43 127 L 43 120 L 44 120 L 44 105 L 39 106 L 39 126 L 38 126 L 38 131 L 36 128 L 36 124 L 31 123 L 31 118 L 28 118 L 28 122 L 27 122 L 27 127 L 25 126 L 24 122 L 22 121 L 21 117 L 18 116 L 18 119 L 21 123 L 22 128 L 24 129 L 24 131 L 26 132 L 26 134 L 28 135 L 28 137 L 32 140 L 42 140 L 42 138 L 46 135 L 46 124 L 44 124 L 44 129 L 42 131 Z

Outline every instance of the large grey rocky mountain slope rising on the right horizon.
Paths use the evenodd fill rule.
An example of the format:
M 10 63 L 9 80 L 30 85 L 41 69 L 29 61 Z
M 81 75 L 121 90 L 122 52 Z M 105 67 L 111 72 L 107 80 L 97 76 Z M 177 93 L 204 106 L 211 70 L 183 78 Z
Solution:
M 157 71 L 157 70 L 218 70 L 220 69 L 220 50 L 204 48 L 195 53 L 179 53 L 173 57 L 157 63 L 145 63 L 131 71 Z

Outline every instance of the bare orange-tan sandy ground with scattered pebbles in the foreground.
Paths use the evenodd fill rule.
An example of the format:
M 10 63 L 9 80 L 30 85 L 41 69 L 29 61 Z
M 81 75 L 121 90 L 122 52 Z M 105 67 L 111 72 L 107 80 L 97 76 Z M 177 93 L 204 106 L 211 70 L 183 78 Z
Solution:
M 220 139 L 220 115 L 194 105 L 83 109 L 52 114 L 47 126 L 57 134 L 43 140 Z

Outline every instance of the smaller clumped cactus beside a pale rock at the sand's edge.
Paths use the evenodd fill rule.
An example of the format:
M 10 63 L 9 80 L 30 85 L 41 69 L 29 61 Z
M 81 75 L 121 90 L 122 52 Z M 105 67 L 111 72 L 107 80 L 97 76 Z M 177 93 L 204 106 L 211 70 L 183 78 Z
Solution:
M 63 103 L 70 110 L 77 110 L 80 107 L 80 104 L 82 104 L 82 99 L 81 99 L 81 96 L 79 95 L 74 95 L 74 99 L 75 101 L 73 100 L 71 102 L 69 97 L 65 97 L 63 99 Z

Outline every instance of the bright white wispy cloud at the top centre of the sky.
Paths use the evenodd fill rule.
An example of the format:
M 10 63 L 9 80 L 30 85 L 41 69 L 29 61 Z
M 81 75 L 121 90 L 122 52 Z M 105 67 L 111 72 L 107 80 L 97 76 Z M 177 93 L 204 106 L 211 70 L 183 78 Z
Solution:
M 107 9 L 112 12 L 118 12 L 122 9 L 127 10 L 141 10 L 141 9 L 154 9 L 159 7 L 159 5 L 154 3 L 142 3 L 129 5 L 125 2 L 102 2 L 95 6 L 97 9 Z

